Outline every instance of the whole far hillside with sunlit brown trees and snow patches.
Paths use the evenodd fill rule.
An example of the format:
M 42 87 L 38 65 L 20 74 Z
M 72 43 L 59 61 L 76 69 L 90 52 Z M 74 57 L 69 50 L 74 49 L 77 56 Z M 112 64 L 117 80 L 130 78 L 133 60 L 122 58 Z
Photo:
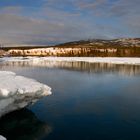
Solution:
M 54 46 L 19 46 L 1 49 L 8 56 L 140 57 L 140 38 L 80 40 Z

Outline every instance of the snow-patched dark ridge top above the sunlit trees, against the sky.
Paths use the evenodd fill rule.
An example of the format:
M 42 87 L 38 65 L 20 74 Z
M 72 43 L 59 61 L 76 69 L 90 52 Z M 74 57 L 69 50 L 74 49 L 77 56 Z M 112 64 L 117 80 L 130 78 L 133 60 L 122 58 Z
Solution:
M 48 47 L 59 47 L 59 46 L 72 46 L 72 45 L 88 45 L 89 47 L 94 46 L 111 46 L 115 47 L 140 47 L 140 38 L 117 38 L 117 39 L 85 39 L 85 40 L 75 40 L 70 42 L 59 43 L 55 45 L 9 45 L 4 46 L 0 44 L 0 49 L 4 48 L 48 48 Z

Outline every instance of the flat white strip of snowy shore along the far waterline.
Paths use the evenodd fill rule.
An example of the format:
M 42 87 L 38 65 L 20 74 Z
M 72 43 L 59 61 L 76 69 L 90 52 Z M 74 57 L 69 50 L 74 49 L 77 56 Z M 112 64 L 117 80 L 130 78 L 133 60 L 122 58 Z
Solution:
M 30 61 L 38 64 L 43 61 L 67 61 L 67 62 L 90 62 L 90 63 L 111 63 L 111 64 L 133 64 L 140 65 L 139 57 L 4 57 L 0 62 Z

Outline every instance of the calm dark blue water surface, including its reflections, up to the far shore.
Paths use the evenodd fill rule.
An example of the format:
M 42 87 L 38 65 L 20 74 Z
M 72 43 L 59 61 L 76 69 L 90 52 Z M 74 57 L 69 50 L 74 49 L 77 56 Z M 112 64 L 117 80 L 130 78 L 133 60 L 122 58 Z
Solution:
M 0 120 L 8 140 L 140 140 L 140 66 L 16 62 L 0 69 L 34 78 L 53 93 Z

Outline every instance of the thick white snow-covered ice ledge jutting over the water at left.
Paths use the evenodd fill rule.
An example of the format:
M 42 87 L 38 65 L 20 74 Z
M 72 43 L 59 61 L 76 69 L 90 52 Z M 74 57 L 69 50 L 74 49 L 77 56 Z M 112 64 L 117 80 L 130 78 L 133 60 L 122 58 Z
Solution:
M 51 94 L 51 88 L 33 79 L 0 71 L 0 117 Z

